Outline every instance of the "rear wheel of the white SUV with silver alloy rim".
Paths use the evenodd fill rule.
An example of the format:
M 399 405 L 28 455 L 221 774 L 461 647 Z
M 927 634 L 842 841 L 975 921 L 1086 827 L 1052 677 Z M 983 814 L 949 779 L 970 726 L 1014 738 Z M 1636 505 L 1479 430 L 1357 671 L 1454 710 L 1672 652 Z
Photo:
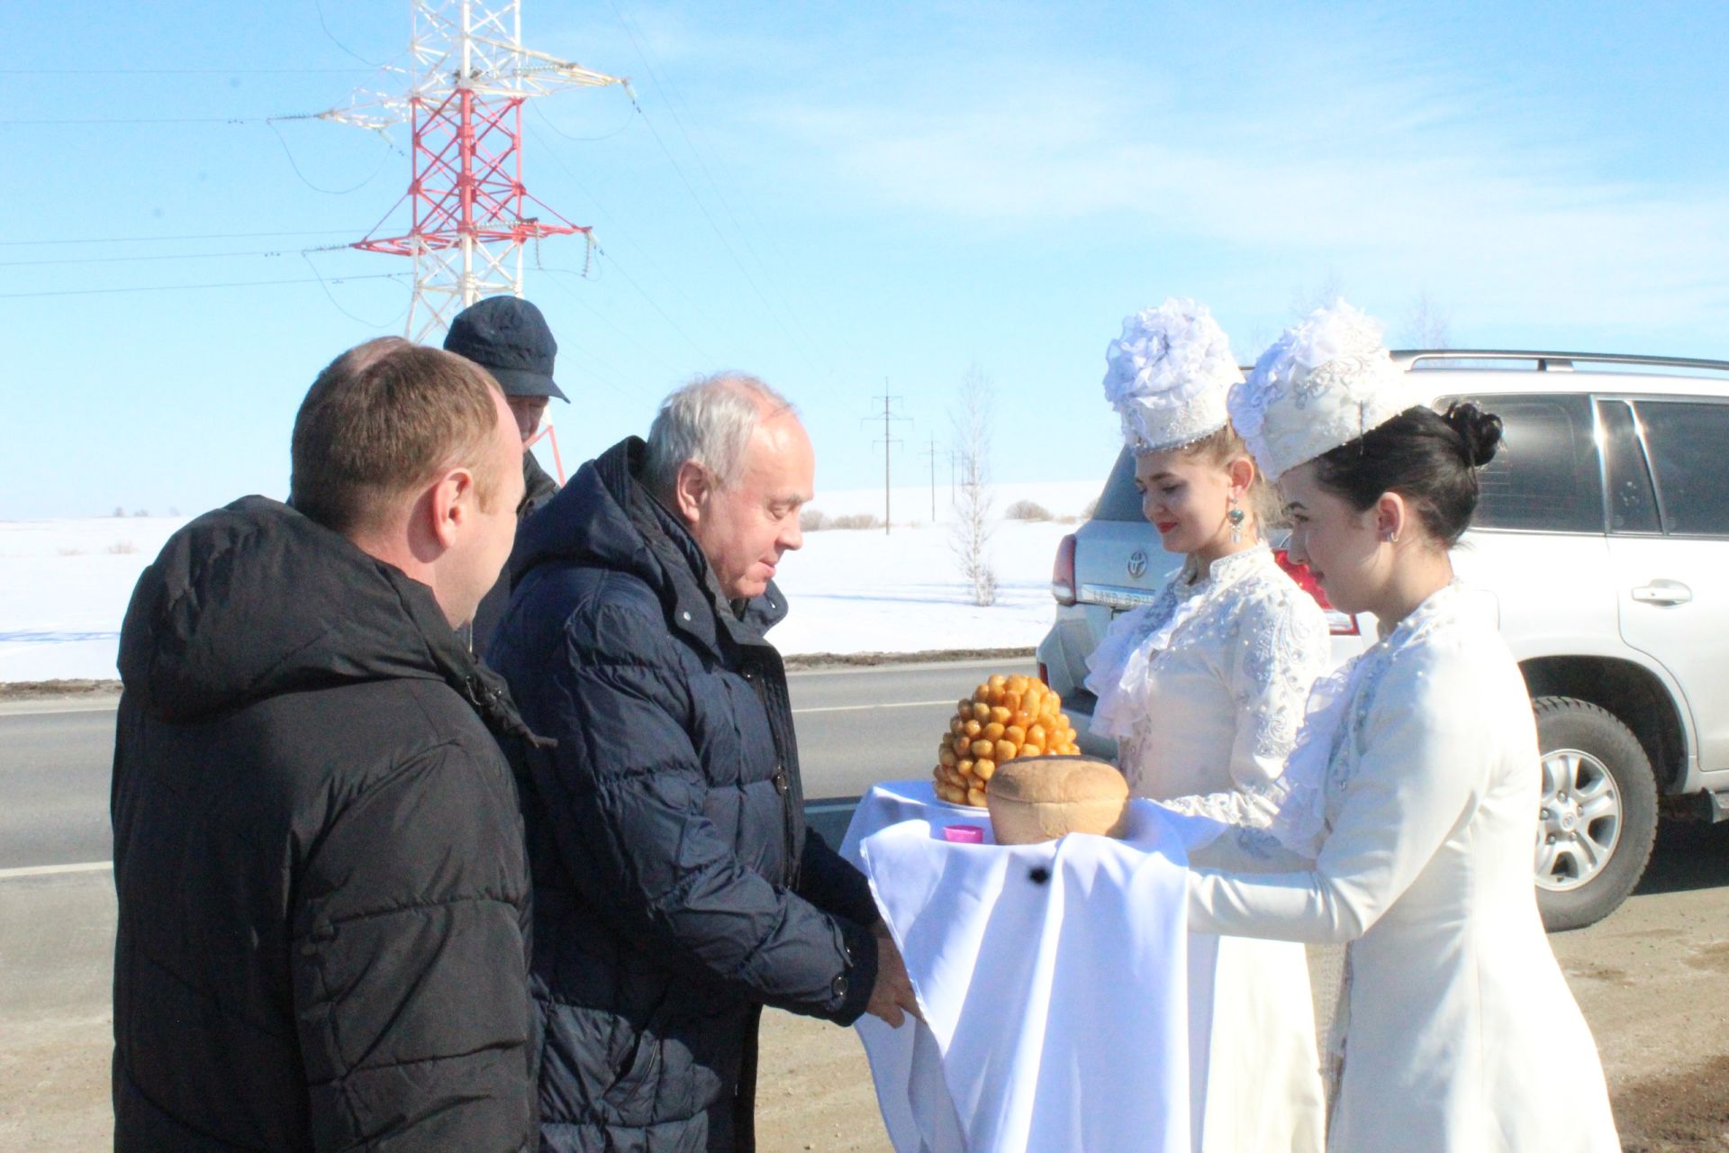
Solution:
M 1615 714 L 1573 697 L 1539 697 L 1542 804 L 1537 908 L 1549 932 L 1613 913 L 1644 875 L 1656 838 L 1656 774 Z

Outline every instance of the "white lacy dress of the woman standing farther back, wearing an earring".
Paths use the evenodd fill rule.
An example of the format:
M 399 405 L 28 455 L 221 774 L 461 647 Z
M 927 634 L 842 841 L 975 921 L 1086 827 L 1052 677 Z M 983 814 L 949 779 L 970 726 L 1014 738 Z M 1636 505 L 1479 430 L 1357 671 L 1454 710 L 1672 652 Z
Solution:
M 1093 731 L 1136 795 L 1266 825 L 1269 785 L 1328 664 L 1326 617 L 1259 545 L 1191 558 L 1112 622 L 1089 660 Z M 1198 1153 L 1312 1153 L 1324 1101 L 1302 946 L 1190 935 L 1190 1080 Z

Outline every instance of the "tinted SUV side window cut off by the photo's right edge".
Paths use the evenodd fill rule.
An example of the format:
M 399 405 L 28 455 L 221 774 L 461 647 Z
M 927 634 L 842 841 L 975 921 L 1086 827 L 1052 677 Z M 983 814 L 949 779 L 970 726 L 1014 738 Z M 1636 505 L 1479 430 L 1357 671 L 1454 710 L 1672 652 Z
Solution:
M 1729 536 L 1729 405 L 1639 401 L 1639 422 L 1656 474 L 1663 531 Z

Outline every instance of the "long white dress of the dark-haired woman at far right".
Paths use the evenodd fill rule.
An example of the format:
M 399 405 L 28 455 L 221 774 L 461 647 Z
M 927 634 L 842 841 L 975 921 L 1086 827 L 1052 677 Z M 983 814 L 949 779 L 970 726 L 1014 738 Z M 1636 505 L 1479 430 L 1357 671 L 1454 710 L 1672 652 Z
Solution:
M 1487 607 L 1447 586 L 1317 685 L 1278 790 L 1271 828 L 1195 854 L 1190 928 L 1350 942 L 1328 1150 L 1620 1150 L 1537 914 L 1537 731 Z

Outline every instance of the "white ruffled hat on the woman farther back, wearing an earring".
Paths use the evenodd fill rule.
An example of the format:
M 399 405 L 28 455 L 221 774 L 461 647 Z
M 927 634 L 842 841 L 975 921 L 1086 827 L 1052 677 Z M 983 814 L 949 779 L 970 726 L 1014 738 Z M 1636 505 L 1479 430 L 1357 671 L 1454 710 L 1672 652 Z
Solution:
M 1226 392 L 1243 379 L 1207 306 L 1177 297 L 1126 316 L 1105 363 L 1105 399 L 1136 453 L 1193 444 L 1222 429 Z

